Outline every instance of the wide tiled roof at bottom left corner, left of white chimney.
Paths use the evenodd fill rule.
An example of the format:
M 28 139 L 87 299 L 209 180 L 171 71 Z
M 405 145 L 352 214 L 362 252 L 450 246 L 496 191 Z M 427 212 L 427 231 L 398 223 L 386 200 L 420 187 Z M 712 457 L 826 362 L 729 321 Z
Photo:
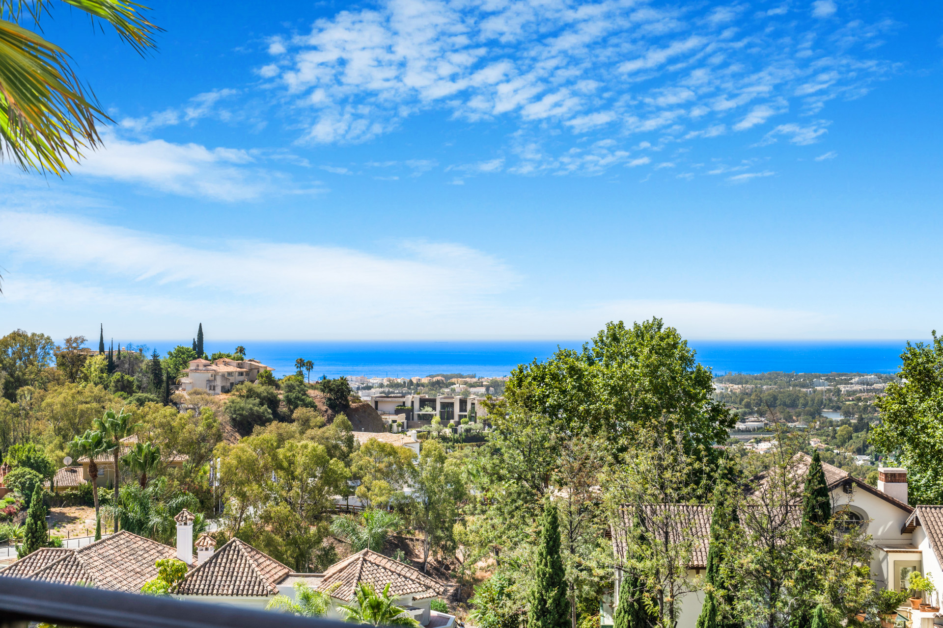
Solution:
M 145 582 L 157 577 L 157 560 L 176 556 L 173 547 L 126 530 L 78 550 L 60 549 L 57 555 L 50 552 L 50 548 L 37 550 L 3 574 L 65 585 L 84 582 L 97 588 L 137 593 Z

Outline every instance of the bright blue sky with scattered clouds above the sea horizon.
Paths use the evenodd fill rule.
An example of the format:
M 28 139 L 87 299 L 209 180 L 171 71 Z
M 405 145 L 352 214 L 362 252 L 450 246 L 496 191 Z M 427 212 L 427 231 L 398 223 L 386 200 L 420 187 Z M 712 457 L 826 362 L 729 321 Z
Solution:
M 0 321 L 55 337 L 938 327 L 935 3 L 152 2 L 43 24 L 116 121 L 0 167 Z

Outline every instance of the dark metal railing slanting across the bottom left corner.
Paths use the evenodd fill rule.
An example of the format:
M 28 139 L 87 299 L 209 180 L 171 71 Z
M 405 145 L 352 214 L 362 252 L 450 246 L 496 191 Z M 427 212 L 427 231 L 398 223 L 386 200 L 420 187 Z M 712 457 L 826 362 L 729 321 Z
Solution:
M 84 628 L 350 628 L 337 620 L 0 576 L 0 628 L 34 621 Z

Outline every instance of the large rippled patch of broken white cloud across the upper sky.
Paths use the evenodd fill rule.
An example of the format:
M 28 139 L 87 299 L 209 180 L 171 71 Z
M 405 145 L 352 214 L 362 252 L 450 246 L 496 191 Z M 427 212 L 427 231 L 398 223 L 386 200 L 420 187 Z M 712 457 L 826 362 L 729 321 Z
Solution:
M 867 93 L 890 68 L 869 51 L 894 26 L 820 19 L 835 10 L 832 0 L 753 15 L 644 0 L 387 0 L 274 38 L 259 72 L 301 112 L 304 141 L 366 141 L 440 110 L 514 121 L 520 163 L 508 171 L 591 173 L 594 162 L 630 161 L 620 146 L 630 136 L 664 143 L 746 132 Z M 572 139 L 556 137 L 549 150 L 550 130 Z M 588 170 L 574 167 L 579 159 L 566 155 L 584 150 L 584 135 L 620 144 L 586 159 Z

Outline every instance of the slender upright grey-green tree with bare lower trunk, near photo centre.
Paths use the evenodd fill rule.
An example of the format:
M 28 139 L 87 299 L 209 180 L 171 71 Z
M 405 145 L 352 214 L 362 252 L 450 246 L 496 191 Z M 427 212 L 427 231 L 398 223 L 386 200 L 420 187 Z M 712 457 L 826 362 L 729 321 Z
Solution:
M 426 442 L 413 481 L 413 520 L 422 530 L 422 572 L 429 553 L 455 549 L 455 517 L 466 494 L 461 469 L 442 445 Z

